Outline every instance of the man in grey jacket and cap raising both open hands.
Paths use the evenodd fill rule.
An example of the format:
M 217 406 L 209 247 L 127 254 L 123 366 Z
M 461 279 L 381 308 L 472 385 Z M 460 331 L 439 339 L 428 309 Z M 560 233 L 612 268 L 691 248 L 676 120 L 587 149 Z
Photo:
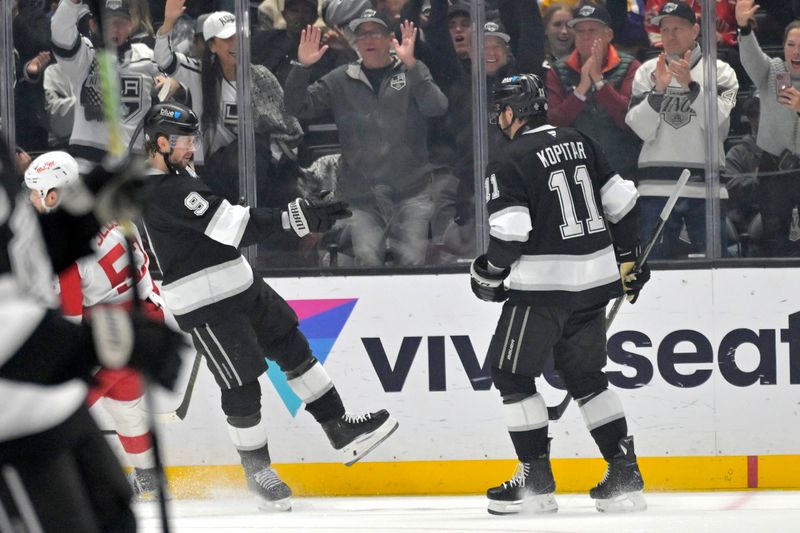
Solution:
M 444 114 L 447 97 L 414 57 L 412 23 L 402 25 L 402 44 L 372 9 L 350 29 L 361 60 L 311 86 L 308 67 L 328 46 L 320 47 L 319 28 L 302 32 L 286 79 L 286 110 L 300 118 L 333 114 L 342 146 L 336 193 L 353 211 L 345 224 L 356 264 L 383 265 L 388 240 L 395 265 L 421 265 L 433 211 L 426 122 Z

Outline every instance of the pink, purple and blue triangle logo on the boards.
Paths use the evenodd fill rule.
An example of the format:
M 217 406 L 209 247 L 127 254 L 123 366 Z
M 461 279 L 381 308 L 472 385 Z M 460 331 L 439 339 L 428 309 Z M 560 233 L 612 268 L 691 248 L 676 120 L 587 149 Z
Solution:
M 288 301 L 300 320 L 300 331 L 308 338 L 311 352 L 319 359 L 320 364 L 324 365 L 328 359 L 357 301 L 357 298 Z M 286 409 L 295 416 L 303 402 L 289 388 L 286 376 L 276 363 L 269 363 L 267 376 Z

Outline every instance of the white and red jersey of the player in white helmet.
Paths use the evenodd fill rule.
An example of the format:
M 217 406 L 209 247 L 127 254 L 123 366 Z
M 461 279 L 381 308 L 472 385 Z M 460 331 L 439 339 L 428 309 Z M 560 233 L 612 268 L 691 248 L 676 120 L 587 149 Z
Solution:
M 156 292 L 148 265 L 150 259 L 134 227 L 133 256 L 137 294 L 146 300 Z M 58 276 L 61 308 L 67 318 L 80 320 L 93 305 L 130 305 L 132 284 L 125 236 L 116 222 L 100 229 L 92 242 L 94 255 L 84 257 Z

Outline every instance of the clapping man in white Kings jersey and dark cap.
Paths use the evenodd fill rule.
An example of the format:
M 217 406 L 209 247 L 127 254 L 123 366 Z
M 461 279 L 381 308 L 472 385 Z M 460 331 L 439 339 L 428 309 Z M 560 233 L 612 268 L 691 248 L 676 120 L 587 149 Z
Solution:
M 682 255 L 679 239 L 684 225 L 691 241 L 689 253 L 705 253 L 706 129 L 708 123 L 718 124 L 719 164 L 723 166 L 723 141 L 728 136 L 739 82 L 730 65 L 716 60 L 718 115 L 707 118 L 703 90 L 705 67 L 697 44 L 700 26 L 694 11 L 687 4 L 668 2 L 653 20 L 659 26 L 664 52 L 645 62 L 636 72 L 626 122 L 644 141 L 638 173 L 642 242 L 652 235 L 658 215 L 682 170 L 688 168 L 692 172 L 692 178 L 667 220 L 661 241 L 650 255 L 653 259 L 675 259 Z M 724 187 L 720 197 L 727 197 Z

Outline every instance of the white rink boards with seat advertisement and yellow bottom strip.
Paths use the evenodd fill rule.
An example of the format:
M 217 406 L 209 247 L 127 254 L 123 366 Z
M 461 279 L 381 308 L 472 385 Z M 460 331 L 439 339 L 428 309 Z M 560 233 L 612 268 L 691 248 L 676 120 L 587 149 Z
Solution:
M 800 487 L 798 271 L 654 272 L 609 331 L 609 378 L 653 489 Z M 270 450 L 298 494 L 482 492 L 514 457 L 486 349 L 500 305 L 465 274 L 269 280 L 292 306 L 351 411 L 387 408 L 400 428 L 352 468 L 277 368 L 262 380 Z M 564 393 L 539 380 L 548 404 Z M 552 382 L 552 383 L 551 383 Z M 158 409 L 177 397 L 159 397 Z M 102 413 L 99 414 L 102 418 Z M 573 404 L 551 423 L 561 491 L 604 463 Z M 176 495 L 241 485 L 238 456 L 203 366 L 185 421 L 161 426 Z

